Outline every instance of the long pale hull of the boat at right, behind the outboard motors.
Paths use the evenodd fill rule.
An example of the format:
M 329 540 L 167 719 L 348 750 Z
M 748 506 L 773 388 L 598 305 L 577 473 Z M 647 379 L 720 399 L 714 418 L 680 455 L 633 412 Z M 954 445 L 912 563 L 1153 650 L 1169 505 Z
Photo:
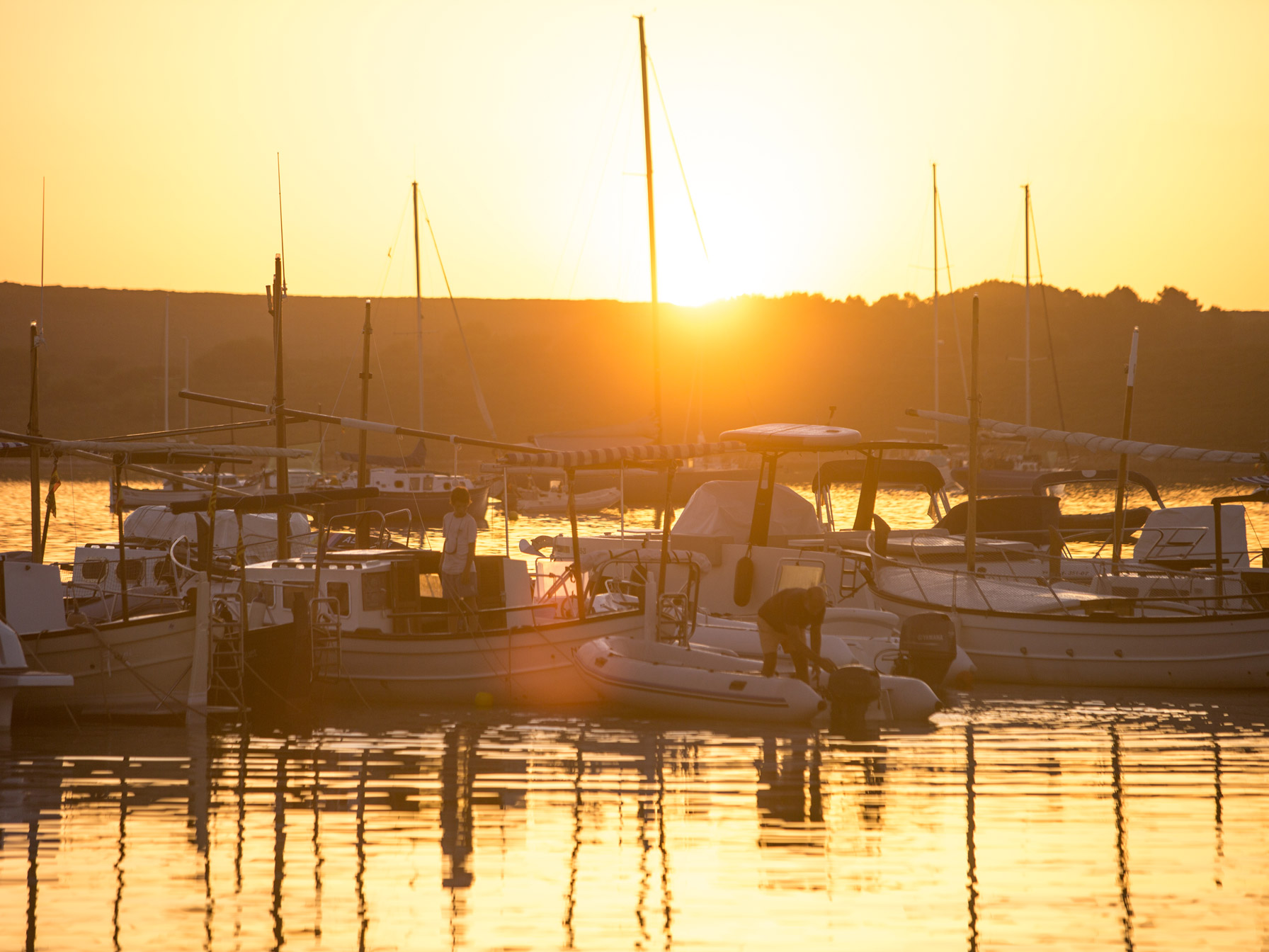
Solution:
M 1011 684 L 1269 689 L 1269 614 L 1101 619 L 954 611 L 887 594 L 896 614 L 945 612 L 977 679 Z

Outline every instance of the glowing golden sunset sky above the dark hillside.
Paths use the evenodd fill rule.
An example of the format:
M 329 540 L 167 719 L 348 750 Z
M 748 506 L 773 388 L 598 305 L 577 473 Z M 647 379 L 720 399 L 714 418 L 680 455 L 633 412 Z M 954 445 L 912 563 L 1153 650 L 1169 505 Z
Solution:
M 0 279 L 47 176 L 48 283 L 260 291 L 280 151 L 292 293 L 412 293 L 416 175 L 456 294 L 647 297 L 641 6 L 3 3 Z M 1029 182 L 1051 283 L 1269 308 L 1269 4 L 646 13 L 664 300 L 928 297 L 938 162 L 957 284 L 1022 279 Z

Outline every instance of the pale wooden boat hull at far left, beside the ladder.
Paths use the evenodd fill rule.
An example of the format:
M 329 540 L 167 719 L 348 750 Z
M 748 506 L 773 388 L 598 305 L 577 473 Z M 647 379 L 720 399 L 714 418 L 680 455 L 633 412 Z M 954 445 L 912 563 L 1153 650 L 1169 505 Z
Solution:
M 66 708 L 86 715 L 184 715 L 190 704 L 193 611 L 22 636 L 33 669 L 74 684 L 19 692 L 19 711 Z M 197 702 L 202 702 L 198 698 Z

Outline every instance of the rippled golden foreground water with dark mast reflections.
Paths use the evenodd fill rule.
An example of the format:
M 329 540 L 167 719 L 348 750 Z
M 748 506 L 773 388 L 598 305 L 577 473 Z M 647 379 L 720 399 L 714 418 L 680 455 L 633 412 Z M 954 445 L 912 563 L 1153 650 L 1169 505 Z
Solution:
M 1265 715 L 980 692 L 864 739 L 506 712 L 18 730 L 0 922 L 30 949 L 1253 948 Z

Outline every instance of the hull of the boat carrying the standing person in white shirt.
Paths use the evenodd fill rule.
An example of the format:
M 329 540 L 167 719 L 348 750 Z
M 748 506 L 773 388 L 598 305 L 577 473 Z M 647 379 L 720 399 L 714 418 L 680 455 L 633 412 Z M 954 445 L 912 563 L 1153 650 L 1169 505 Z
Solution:
M 599 694 L 574 666 L 574 649 L 642 631 L 641 613 L 614 612 L 485 637 L 344 632 L 339 674 L 317 680 L 325 693 L 369 704 L 594 703 Z

